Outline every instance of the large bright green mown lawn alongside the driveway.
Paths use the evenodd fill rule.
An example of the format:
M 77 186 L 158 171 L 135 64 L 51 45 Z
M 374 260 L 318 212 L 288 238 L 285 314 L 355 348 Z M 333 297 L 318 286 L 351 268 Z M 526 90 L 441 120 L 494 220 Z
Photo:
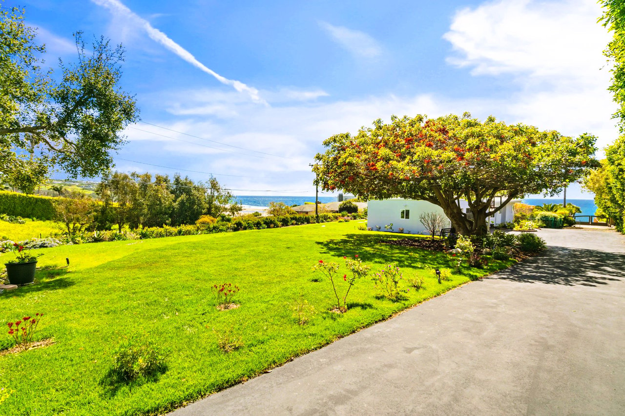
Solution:
M 38 338 L 54 337 L 56 343 L 0 356 L 0 387 L 13 390 L 2 413 L 171 410 L 386 319 L 467 282 L 469 275 L 507 265 L 491 262 L 487 270 L 461 270 L 466 274 L 439 285 L 429 269 L 449 267 L 446 254 L 381 244 L 400 236 L 359 231 L 358 224 L 356 220 L 41 250 L 45 255 L 39 265 L 48 269 L 37 271 L 35 285 L 0 294 L 0 324 L 43 312 Z M 342 273 L 342 256 L 354 254 L 374 270 L 396 262 L 404 275 L 423 275 L 426 287 L 393 301 L 379 297 L 371 280 L 361 280 L 350 292 L 349 310 L 341 315 L 329 312 L 331 286 L 312 272 L 312 266 L 319 259 L 336 261 Z M 66 257 L 68 269 L 62 267 Z M 210 287 L 222 282 L 241 287 L 238 309 L 215 308 Z M 340 279 L 341 287 L 342 283 Z M 315 308 L 307 325 L 297 325 L 289 309 L 301 296 Z M 229 327 L 244 345 L 226 354 L 217 348 L 212 329 Z M 135 335 L 171 350 L 168 370 L 149 382 L 114 388 L 101 384 L 114 349 Z M 9 345 L 7 336 L 0 348 Z

